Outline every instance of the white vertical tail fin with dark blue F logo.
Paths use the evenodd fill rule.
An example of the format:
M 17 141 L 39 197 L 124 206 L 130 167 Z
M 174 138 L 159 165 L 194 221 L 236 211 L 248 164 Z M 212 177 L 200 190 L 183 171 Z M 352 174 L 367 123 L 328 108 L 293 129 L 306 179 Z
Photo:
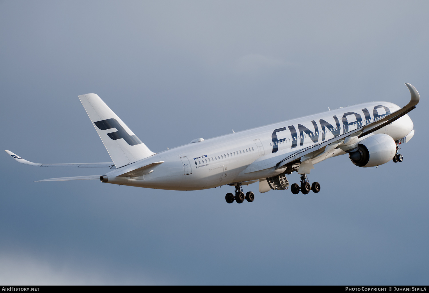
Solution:
M 96 94 L 81 95 L 79 100 L 117 168 L 155 154 Z

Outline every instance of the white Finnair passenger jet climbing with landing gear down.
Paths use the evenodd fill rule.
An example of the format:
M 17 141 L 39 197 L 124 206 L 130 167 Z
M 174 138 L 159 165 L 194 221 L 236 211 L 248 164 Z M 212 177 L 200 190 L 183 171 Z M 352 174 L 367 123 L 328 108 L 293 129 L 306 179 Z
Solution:
M 201 190 L 231 185 L 228 203 L 253 202 L 254 193 L 242 185 L 259 181 L 261 193 L 289 189 L 293 194 L 320 191 L 307 174 L 314 164 L 349 154 L 359 167 L 402 162 L 399 145 L 414 135 L 407 115 L 420 95 L 410 84 L 410 102 L 400 108 L 389 102 L 362 103 L 314 115 L 269 124 L 211 139 L 194 139 L 159 153 L 146 145 L 96 94 L 79 96 L 113 162 L 32 163 L 6 151 L 19 163 L 42 167 L 106 167 L 103 175 L 51 178 L 40 181 L 99 179 L 104 183 L 169 190 Z M 290 185 L 286 175 L 301 174 L 300 184 Z

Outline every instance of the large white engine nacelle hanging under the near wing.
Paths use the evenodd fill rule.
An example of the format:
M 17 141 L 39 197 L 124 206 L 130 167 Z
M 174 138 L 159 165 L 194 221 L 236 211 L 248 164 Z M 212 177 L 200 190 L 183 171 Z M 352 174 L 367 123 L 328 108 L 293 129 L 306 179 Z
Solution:
M 363 139 L 357 150 L 350 153 L 350 160 L 359 167 L 383 165 L 396 154 L 396 143 L 387 134 L 375 134 Z

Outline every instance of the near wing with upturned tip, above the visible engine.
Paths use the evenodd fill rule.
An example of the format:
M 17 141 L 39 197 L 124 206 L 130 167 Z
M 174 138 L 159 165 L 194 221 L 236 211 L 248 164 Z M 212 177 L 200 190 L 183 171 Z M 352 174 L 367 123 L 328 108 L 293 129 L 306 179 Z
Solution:
M 392 123 L 393 121 L 401 118 L 411 110 L 416 108 L 417 103 L 420 101 L 420 95 L 417 92 L 417 90 L 410 84 L 405 84 L 408 87 L 408 90 L 411 94 L 411 100 L 410 102 L 402 107 L 401 109 L 390 113 L 389 115 L 386 115 L 385 117 L 375 120 L 371 123 L 368 123 L 366 125 L 363 125 L 361 127 L 357 127 L 354 130 L 351 130 L 347 133 L 344 133 L 340 136 L 336 136 L 332 139 L 328 139 L 324 142 L 320 142 L 316 145 L 311 145 L 308 148 L 300 149 L 299 151 L 295 151 L 292 153 L 287 154 L 278 154 L 275 157 L 269 157 L 269 158 L 260 158 L 253 163 L 251 163 L 245 170 L 245 173 L 260 171 L 263 169 L 268 169 L 272 167 L 279 168 L 281 166 L 286 165 L 287 163 L 293 162 L 294 160 L 297 160 L 299 158 L 304 157 L 305 155 L 311 154 L 313 152 L 317 152 L 314 154 L 311 154 L 308 159 L 317 156 L 318 154 L 322 154 L 325 151 L 325 147 L 328 147 L 329 149 L 336 148 L 339 143 L 341 143 L 343 140 L 344 142 L 350 141 L 351 139 L 355 137 L 362 137 L 366 136 L 370 133 L 373 133 L 374 131 L 381 129 L 382 127 L 385 127 L 387 124 Z M 329 147 L 329 145 L 331 145 Z M 325 148 L 325 149 L 323 149 Z M 306 160 L 306 159 L 305 159 Z M 301 162 L 305 161 L 301 159 Z

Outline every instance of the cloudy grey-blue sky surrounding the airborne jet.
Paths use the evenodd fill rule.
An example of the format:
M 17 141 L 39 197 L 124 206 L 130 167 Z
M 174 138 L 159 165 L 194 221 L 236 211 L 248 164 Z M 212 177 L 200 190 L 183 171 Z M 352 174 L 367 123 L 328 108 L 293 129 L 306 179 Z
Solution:
M 420 92 L 402 163 L 315 165 L 317 195 L 33 182 L 0 156 L 3 284 L 427 284 L 425 1 L 0 1 L 1 150 L 110 157 L 78 95 L 151 149 Z M 288 177 L 297 182 L 296 174 Z M 257 184 L 245 190 L 257 191 Z

